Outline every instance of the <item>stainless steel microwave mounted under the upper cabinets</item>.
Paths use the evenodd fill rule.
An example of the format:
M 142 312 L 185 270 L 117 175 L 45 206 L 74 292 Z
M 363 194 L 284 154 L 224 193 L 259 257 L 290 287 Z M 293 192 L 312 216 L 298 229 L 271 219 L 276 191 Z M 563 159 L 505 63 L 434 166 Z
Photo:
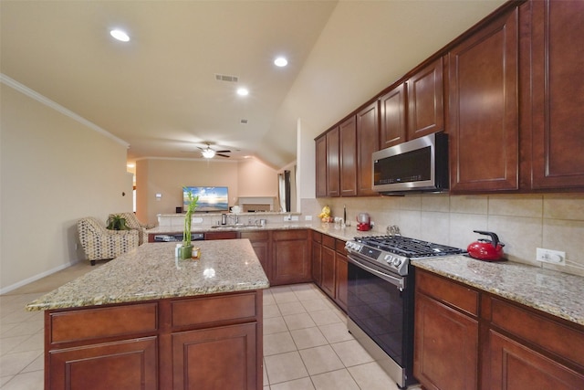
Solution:
M 448 135 L 435 132 L 373 153 L 373 190 L 382 194 L 448 190 Z

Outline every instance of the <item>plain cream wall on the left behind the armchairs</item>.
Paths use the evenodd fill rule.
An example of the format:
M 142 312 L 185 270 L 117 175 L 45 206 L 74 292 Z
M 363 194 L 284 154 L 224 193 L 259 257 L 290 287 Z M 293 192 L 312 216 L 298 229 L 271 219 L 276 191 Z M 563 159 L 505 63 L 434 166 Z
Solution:
M 2 80 L 0 293 L 83 258 L 78 218 L 132 206 L 124 142 Z

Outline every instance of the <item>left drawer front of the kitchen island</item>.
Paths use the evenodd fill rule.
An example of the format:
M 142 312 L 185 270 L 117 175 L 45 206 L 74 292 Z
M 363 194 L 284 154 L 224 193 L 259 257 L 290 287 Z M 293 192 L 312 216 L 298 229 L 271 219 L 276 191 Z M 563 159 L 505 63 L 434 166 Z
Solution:
M 49 343 L 71 343 L 158 330 L 158 304 L 48 313 Z

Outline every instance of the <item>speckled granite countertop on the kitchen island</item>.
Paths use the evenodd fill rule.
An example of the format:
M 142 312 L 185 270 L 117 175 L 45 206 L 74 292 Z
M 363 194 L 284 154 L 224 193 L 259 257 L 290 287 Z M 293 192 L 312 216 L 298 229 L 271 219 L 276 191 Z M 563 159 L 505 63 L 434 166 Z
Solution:
M 246 239 L 196 241 L 198 260 L 174 258 L 176 243 L 144 244 L 26 305 L 28 311 L 262 290 L 266 273 Z

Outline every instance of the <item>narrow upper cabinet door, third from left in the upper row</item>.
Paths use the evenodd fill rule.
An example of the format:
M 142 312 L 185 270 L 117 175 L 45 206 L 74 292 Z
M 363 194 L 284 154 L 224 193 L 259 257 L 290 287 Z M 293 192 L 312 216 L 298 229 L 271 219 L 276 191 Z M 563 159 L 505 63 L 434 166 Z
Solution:
M 357 126 L 355 117 L 339 125 L 340 195 L 357 195 Z

